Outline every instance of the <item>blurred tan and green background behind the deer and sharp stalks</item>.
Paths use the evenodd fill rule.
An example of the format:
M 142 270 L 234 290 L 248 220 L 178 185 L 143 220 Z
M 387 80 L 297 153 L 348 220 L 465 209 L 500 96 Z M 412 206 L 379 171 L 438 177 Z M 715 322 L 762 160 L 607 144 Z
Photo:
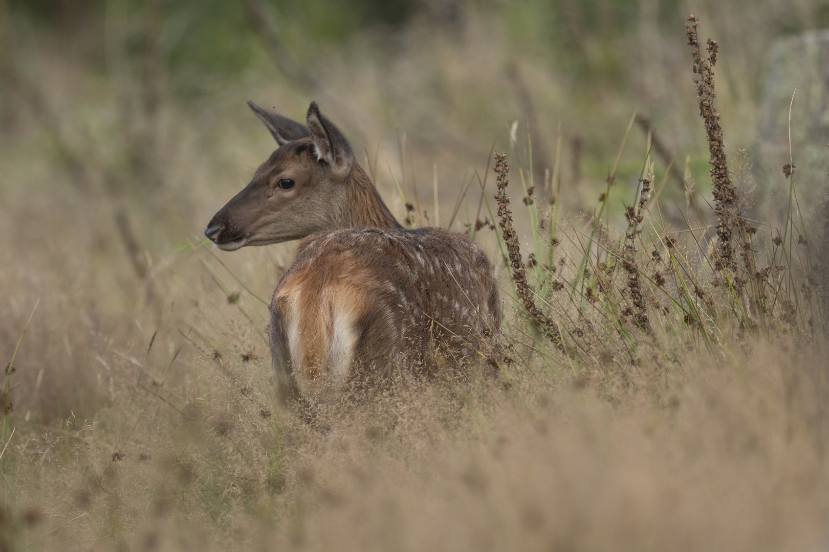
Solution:
M 710 199 L 689 12 L 720 42 L 716 105 L 752 209 L 771 213 L 788 193 L 796 86 L 793 159 L 802 198 L 814 190 L 802 208 L 815 209 L 829 2 L 0 0 L 2 358 L 40 298 L 15 412 L 94 414 L 113 400 L 113 367 L 140 364 L 157 329 L 170 355 L 179 329 L 201 324 L 207 339 L 225 316 L 222 347 L 267 359 L 252 330 L 249 346 L 226 329 L 250 301 L 261 330 L 264 305 L 225 299 L 244 285 L 267 300 L 293 245 L 180 249 L 274 149 L 249 98 L 299 121 L 318 101 L 398 218 L 414 200 L 414 223 L 433 224 L 436 180 L 439 223 L 461 231 L 478 181 L 458 196 L 493 146 L 541 204 L 557 186 L 573 223 L 594 214 L 618 156 L 611 225 L 623 228 L 650 136 L 662 216 L 681 224 L 691 196 Z

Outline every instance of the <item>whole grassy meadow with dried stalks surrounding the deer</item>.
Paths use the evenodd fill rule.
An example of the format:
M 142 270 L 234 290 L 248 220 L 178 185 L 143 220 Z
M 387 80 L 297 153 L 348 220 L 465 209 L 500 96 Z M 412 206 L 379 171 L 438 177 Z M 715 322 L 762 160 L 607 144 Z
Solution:
M 297 6 L 0 0 L 0 550 L 826 548 L 829 163 L 766 92 L 826 7 Z M 277 404 L 295 244 L 202 235 L 248 98 L 486 248 L 496 374 Z

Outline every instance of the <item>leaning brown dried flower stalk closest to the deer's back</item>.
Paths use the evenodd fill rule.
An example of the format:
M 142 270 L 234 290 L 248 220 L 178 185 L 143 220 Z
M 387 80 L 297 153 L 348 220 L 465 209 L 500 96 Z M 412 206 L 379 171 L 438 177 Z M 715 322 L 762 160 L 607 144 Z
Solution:
M 547 337 L 555 343 L 555 346 L 564 350 L 563 342 L 561 341 L 561 334 L 553 319 L 541 312 L 541 309 L 536 305 L 536 301 L 532 298 L 532 290 L 526 281 L 526 268 L 524 262 L 521 260 L 521 244 L 518 242 L 516 229 L 512 225 L 512 212 L 509 209 L 510 198 L 507 196 L 507 174 L 510 166 L 507 165 L 507 154 L 495 154 L 495 174 L 497 175 L 497 194 L 495 199 L 498 202 L 498 225 L 501 227 L 501 232 L 504 236 L 504 242 L 507 244 L 507 252 L 510 257 L 510 266 L 512 267 L 512 281 L 516 284 L 518 290 L 518 297 L 521 304 L 530 313 L 532 319 L 536 324 L 544 329 Z

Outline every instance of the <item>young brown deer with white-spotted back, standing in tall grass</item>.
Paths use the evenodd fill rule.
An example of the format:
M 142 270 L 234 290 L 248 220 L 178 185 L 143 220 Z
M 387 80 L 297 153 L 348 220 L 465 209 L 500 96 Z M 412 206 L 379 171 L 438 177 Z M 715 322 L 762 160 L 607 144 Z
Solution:
M 465 233 L 404 228 L 342 132 L 248 105 L 279 146 L 207 224 L 225 251 L 300 240 L 270 303 L 279 401 L 390 382 L 443 362 L 494 362 L 502 305 L 487 254 Z

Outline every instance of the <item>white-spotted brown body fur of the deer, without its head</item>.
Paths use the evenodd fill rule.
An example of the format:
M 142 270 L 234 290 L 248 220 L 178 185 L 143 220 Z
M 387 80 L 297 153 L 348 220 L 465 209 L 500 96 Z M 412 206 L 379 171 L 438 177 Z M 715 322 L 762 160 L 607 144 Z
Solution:
M 351 331 L 359 336 L 350 376 L 385 382 L 398 370 L 427 367 L 435 353 L 450 364 L 473 360 L 478 351 L 490 354 L 492 332 L 501 326 L 492 277 L 492 265 L 472 240 L 441 228 L 313 234 L 299 243 L 271 303 L 271 325 L 282 329 L 276 340 L 284 343 L 285 319 L 292 315 L 288 302 L 299 295 L 303 355 L 290 358 L 284 343 L 277 347 L 274 367 L 293 372 L 294 380 L 316 380 L 303 395 L 322 390 L 330 373 L 332 297 L 338 309 L 349 312 Z M 290 377 L 280 374 L 281 381 Z M 295 385 L 283 391 L 289 395 Z

